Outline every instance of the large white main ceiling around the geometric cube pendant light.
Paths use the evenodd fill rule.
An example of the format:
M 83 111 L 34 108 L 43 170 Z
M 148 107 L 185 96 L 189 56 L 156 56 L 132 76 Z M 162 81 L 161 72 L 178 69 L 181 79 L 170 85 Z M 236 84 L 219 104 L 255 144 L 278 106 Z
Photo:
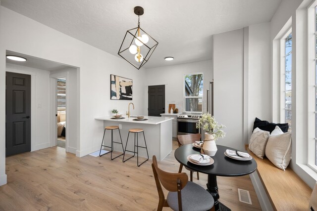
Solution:
M 212 59 L 211 35 L 269 22 L 281 0 L 1 0 L 1 5 L 117 55 L 128 29 L 159 42 L 145 68 Z M 171 62 L 164 60 L 173 56 Z M 122 60 L 124 61 L 124 60 Z

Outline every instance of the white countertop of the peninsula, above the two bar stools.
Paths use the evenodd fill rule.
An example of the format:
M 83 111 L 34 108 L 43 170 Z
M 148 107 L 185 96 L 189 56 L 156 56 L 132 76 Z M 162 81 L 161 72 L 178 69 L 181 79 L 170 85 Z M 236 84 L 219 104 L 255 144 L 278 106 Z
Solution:
M 130 118 L 128 118 L 127 116 L 123 116 L 123 117 L 124 117 L 124 119 L 111 119 L 112 117 L 96 117 L 95 120 L 158 125 L 160 123 L 167 122 L 167 121 L 174 119 L 172 117 L 148 117 L 148 116 L 144 116 L 144 119 L 148 119 L 148 120 L 136 121 L 136 120 L 134 120 L 134 119 L 137 119 L 136 117 L 130 117 Z

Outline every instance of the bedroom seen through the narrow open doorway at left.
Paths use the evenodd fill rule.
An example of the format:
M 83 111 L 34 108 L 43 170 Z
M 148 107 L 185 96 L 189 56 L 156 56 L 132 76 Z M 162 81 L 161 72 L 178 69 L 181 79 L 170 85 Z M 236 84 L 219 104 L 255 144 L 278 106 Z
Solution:
M 57 147 L 66 147 L 66 77 L 56 79 Z

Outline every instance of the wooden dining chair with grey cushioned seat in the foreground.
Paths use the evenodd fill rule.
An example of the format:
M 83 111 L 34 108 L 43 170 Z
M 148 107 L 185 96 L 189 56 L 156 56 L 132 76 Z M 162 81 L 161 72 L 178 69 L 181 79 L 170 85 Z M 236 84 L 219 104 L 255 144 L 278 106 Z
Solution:
M 200 185 L 188 181 L 186 173 L 170 173 L 159 169 L 155 155 L 152 169 L 159 193 L 158 211 L 163 207 L 173 211 L 209 211 L 213 207 L 211 194 Z M 169 191 L 166 199 L 161 184 Z

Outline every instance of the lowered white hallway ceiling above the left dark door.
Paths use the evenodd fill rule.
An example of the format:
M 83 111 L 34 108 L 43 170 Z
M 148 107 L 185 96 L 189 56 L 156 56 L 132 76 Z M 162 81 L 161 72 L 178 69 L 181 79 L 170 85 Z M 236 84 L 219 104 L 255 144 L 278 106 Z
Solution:
M 66 67 L 69 67 L 69 66 L 62 65 L 62 64 L 59 64 L 59 63 L 56 63 L 53 61 L 25 55 L 22 53 L 17 53 L 17 52 L 10 51 L 10 50 L 6 51 L 6 55 L 22 56 L 22 57 L 26 58 L 25 62 L 19 62 L 19 61 L 14 61 L 14 60 L 5 58 L 7 63 L 37 68 L 40 70 L 54 71 L 54 70 L 61 70 L 61 69 L 64 69 Z

